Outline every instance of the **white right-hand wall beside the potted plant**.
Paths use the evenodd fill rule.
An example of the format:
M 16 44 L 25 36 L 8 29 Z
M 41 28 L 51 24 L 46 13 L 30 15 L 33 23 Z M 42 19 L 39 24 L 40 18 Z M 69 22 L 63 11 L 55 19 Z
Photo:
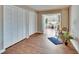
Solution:
M 79 52 L 79 6 L 71 6 L 70 9 L 70 32 L 75 40 L 71 40 L 76 50 Z

